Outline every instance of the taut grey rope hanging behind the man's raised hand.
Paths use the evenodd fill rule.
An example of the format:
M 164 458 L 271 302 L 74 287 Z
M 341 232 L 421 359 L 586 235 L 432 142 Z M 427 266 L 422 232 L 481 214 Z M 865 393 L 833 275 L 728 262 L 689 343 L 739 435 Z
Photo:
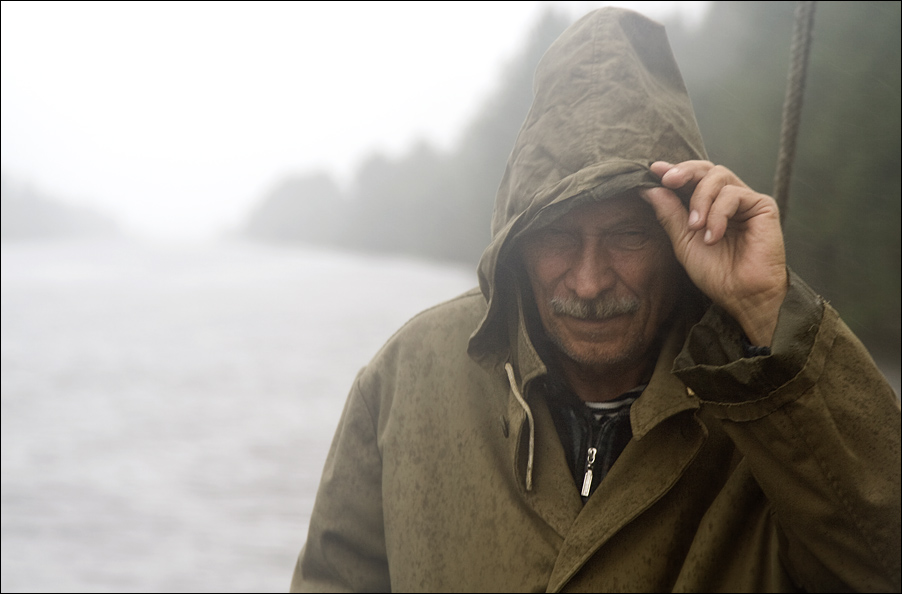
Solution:
M 795 26 L 789 50 L 789 79 L 786 82 L 783 124 L 780 129 L 780 151 L 777 155 L 777 170 L 774 173 L 774 200 L 780 208 L 781 223 L 786 221 L 789 206 L 789 180 L 792 177 L 796 137 L 801 121 L 802 96 L 805 93 L 805 76 L 808 72 L 808 54 L 811 49 L 811 29 L 816 4 L 817 2 L 799 2 L 795 11 Z

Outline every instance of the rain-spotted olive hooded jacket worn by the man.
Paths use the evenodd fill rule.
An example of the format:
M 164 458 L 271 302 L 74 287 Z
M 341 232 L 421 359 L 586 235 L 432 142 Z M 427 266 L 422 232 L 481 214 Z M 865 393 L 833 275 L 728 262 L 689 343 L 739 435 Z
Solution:
M 794 274 L 772 351 L 689 298 L 585 505 L 549 412 L 518 238 L 705 158 L 663 28 L 590 13 L 540 62 L 479 289 L 408 322 L 358 374 L 297 591 L 898 591 L 900 411 Z

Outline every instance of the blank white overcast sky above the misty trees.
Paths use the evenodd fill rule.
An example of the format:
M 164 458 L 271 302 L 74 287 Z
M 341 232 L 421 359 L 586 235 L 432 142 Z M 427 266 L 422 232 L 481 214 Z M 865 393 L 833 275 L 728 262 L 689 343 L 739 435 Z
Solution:
M 452 147 L 548 4 L 603 3 L 4 1 L 3 173 L 210 239 L 288 175 Z M 709 2 L 608 4 L 692 21 Z

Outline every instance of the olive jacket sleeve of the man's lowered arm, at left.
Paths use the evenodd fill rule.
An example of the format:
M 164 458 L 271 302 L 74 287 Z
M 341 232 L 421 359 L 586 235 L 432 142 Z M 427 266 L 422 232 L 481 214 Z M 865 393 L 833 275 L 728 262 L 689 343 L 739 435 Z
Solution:
M 310 517 L 292 592 L 388 592 L 382 458 L 375 414 L 357 377 L 345 403 Z

